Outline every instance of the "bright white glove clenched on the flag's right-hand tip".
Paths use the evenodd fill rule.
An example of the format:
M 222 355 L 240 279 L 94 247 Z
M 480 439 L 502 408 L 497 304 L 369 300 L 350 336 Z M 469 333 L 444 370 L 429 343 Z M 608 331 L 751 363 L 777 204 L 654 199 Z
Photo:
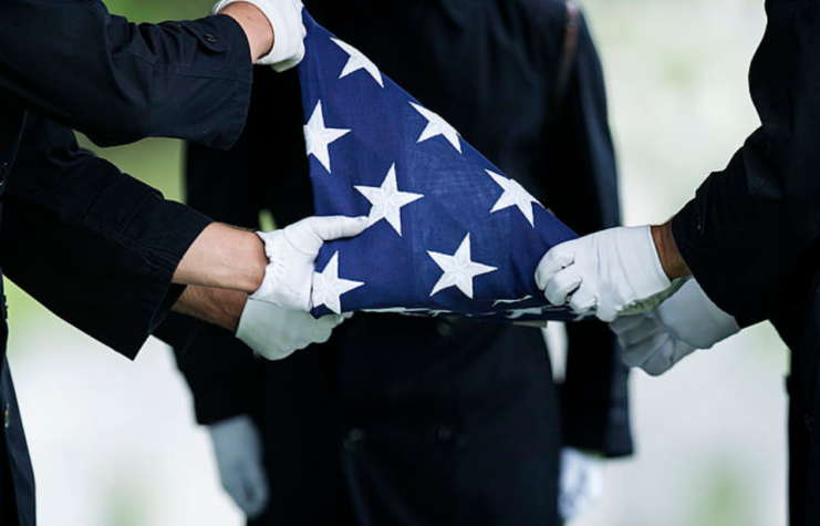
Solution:
M 572 310 L 594 310 L 603 321 L 650 310 L 672 287 L 648 226 L 612 228 L 552 248 L 538 264 L 536 283 L 551 303 L 569 297 Z

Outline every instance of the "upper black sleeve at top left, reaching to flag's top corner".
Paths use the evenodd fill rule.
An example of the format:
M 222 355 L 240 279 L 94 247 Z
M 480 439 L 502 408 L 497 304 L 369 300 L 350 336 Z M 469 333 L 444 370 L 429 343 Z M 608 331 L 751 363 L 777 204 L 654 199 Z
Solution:
M 225 148 L 245 125 L 250 51 L 229 17 L 135 24 L 98 0 L 4 0 L 0 25 L 0 99 L 100 144 Z

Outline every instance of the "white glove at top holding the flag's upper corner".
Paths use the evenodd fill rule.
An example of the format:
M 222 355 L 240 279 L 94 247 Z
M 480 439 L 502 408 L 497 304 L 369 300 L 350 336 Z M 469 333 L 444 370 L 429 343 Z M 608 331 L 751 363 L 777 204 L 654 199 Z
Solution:
M 211 12 L 217 14 L 226 6 L 240 1 L 259 8 L 273 28 L 273 49 L 256 63 L 271 65 L 279 72 L 298 65 L 304 58 L 304 37 L 308 34 L 302 23 L 301 0 L 220 0 Z

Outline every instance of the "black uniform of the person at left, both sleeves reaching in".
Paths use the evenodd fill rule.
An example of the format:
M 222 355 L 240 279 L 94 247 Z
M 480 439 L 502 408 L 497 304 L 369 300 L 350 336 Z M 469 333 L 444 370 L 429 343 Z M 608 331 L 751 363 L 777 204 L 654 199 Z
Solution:
M 173 136 L 228 147 L 245 125 L 248 43 L 228 17 L 135 25 L 94 0 L 0 2 L 0 264 L 61 318 L 134 358 L 181 293 L 210 219 L 81 149 Z M 0 322 L 0 524 L 35 524 L 34 481 Z

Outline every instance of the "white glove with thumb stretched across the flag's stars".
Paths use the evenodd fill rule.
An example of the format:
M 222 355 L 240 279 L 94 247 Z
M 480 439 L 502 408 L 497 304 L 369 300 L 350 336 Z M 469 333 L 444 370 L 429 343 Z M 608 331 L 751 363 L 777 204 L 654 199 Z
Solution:
M 315 259 L 324 241 L 357 236 L 365 228 L 367 217 L 333 216 L 309 217 L 282 230 L 257 233 L 270 265 L 251 299 L 309 312 Z

